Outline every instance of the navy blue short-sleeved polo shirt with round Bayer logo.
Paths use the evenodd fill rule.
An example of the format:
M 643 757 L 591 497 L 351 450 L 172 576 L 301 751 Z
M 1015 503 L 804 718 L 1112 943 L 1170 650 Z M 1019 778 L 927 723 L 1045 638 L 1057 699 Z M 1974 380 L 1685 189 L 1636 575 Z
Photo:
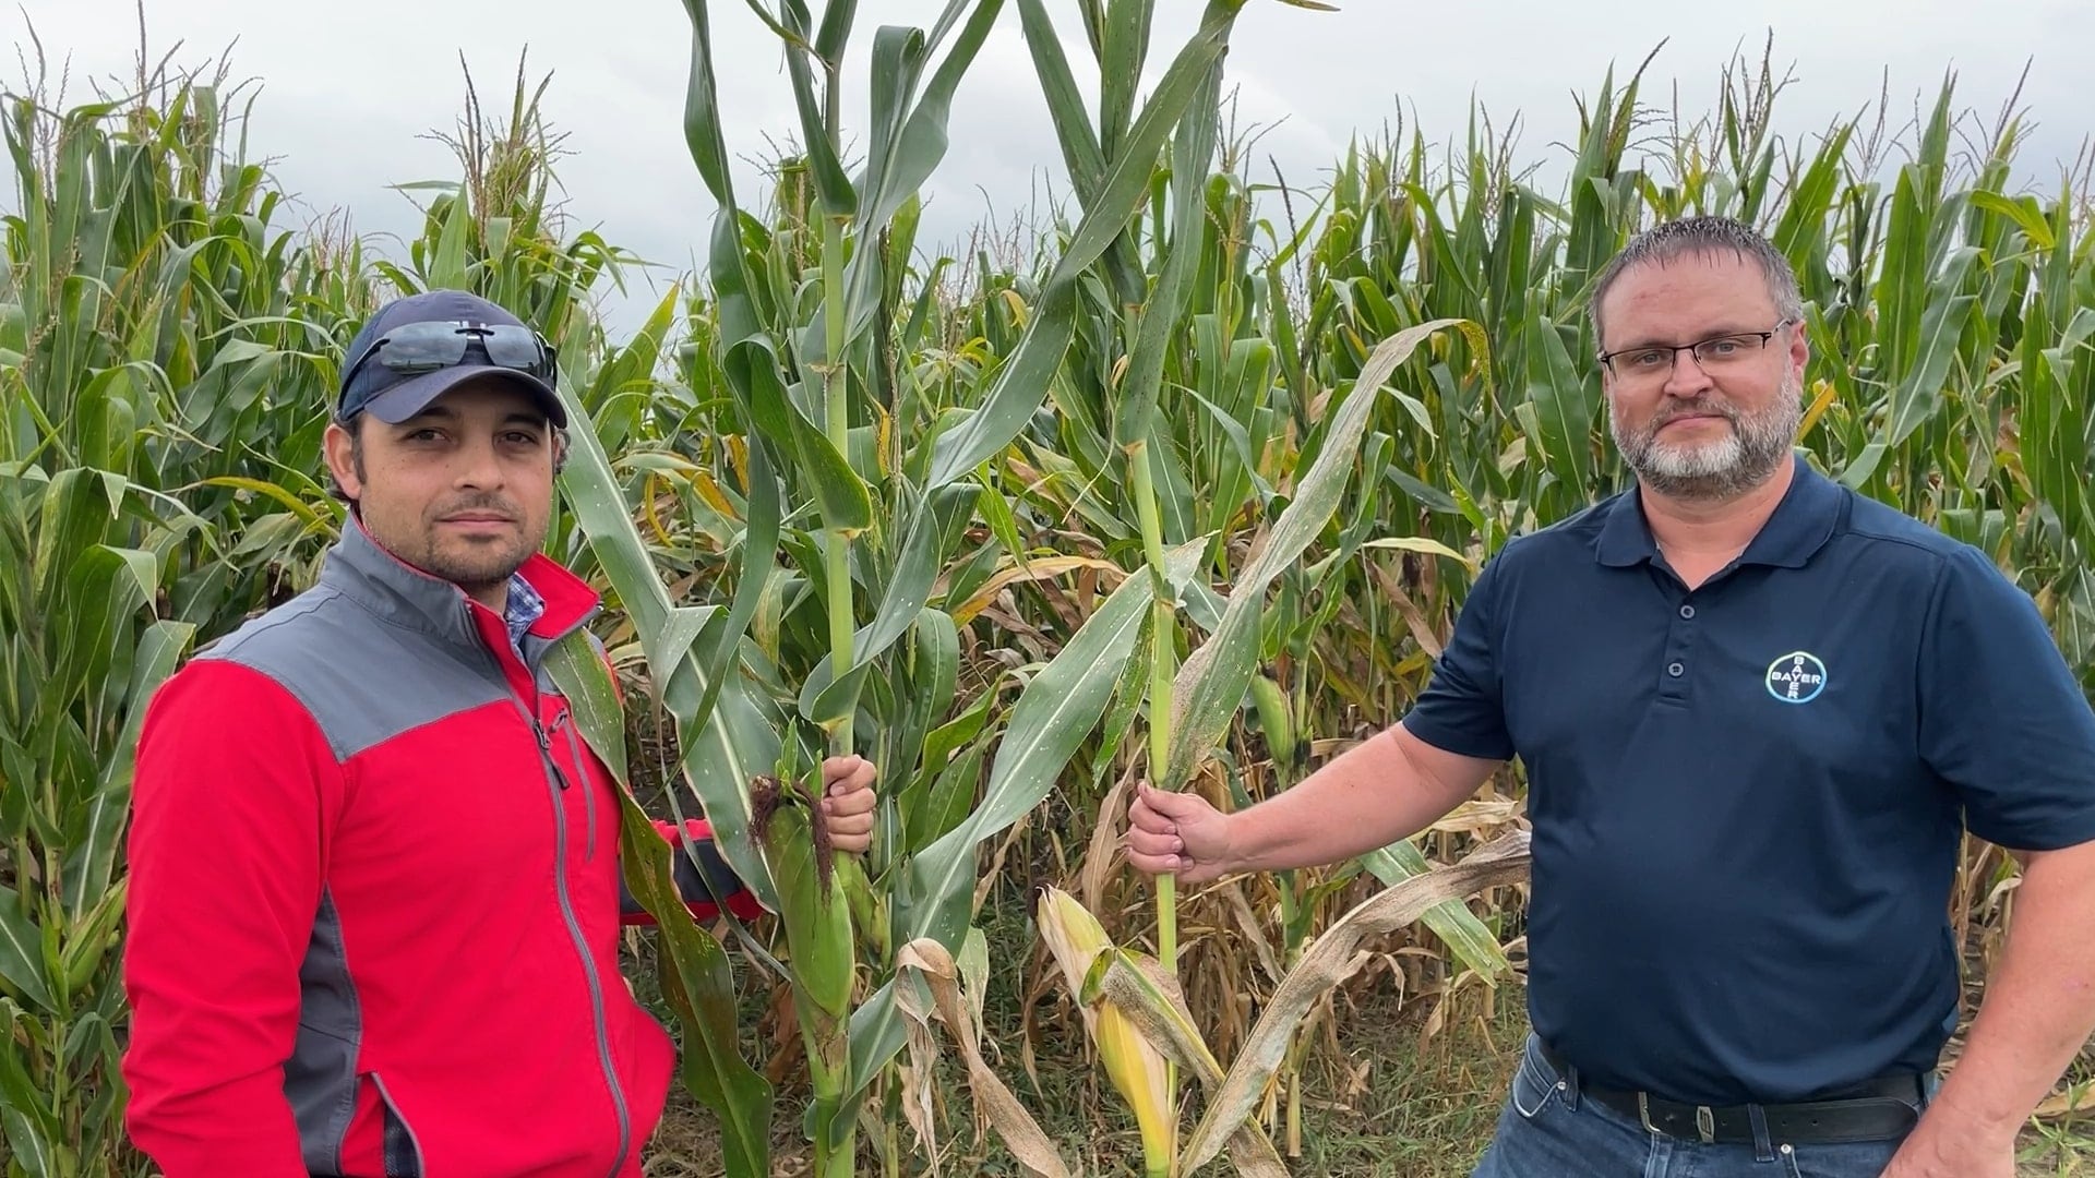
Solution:
M 1634 490 L 1513 539 L 1404 723 L 1521 759 L 1534 1027 L 1676 1100 L 1936 1067 L 1961 828 L 2095 838 L 2095 713 L 2030 597 L 1804 461 L 1693 593 Z

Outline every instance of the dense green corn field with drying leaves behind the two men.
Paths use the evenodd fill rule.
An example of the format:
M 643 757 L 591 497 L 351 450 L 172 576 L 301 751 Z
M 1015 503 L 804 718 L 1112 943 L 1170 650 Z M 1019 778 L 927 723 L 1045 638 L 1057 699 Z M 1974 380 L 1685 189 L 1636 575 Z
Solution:
M 679 918 L 629 822 L 662 916 L 633 950 L 735 1178 L 779 1142 L 821 1176 L 926 1172 L 974 1117 L 1027 1174 L 1286 1174 L 1343 994 L 1395 989 L 1429 1023 L 1473 987 L 1519 1002 L 1517 769 L 1330 870 L 1179 895 L 1117 847 L 1138 778 L 1242 807 L 1399 719 L 1481 562 L 1624 486 L 1584 298 L 1655 220 L 1768 233 L 1814 342 L 1808 459 L 1992 553 L 2095 690 L 2087 161 L 2015 189 L 2024 119 L 1948 86 L 1911 126 L 1865 109 L 1791 143 L 1772 71 L 1735 63 L 1693 122 L 1611 71 L 1559 191 L 1483 122 L 1355 138 L 1303 187 L 1223 117 L 1244 2 L 1209 0 L 1179 46 L 1150 42 L 1146 0 L 953 0 L 928 29 L 752 2 L 800 113 L 752 193 L 710 40 L 750 13 L 685 0 L 691 67 L 658 84 L 685 92 L 719 212 L 693 222 L 702 272 L 622 337 L 599 302 L 635 258 L 551 212 L 557 136 L 522 78 L 507 109 L 467 105 L 457 184 L 390 256 L 293 220 L 222 67 L 8 94 L 6 1174 L 149 1172 L 117 1077 L 136 729 L 199 643 L 316 574 L 344 524 L 321 482 L 341 348 L 396 293 L 471 289 L 557 344 L 576 428 L 547 551 L 612 606 L 624 715 L 580 667 L 570 694 L 629 817 L 704 813 L 777 914 Z M 844 71 L 855 36 L 869 78 Z M 991 36 L 1031 52 L 1073 197 L 932 256 L 920 191 Z M 872 117 L 846 130 L 857 86 Z M 832 750 L 880 765 L 882 813 L 869 855 L 815 872 L 758 782 Z M 1969 843 L 1973 981 L 2013 878 Z M 1100 1132 L 1140 1144 L 1073 1159 L 1041 1130 L 1020 1050 L 985 1056 L 993 960 L 1029 1025 L 1089 1035 L 1125 1103 Z

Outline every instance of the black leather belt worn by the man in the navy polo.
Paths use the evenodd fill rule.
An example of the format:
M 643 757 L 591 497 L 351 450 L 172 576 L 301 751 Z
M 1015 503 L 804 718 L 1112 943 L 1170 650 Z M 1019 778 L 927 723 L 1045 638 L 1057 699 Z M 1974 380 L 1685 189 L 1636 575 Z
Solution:
M 1563 1075 L 1567 1063 L 1546 1044 L 1542 1059 Z M 1751 1144 L 1754 1109 L 1760 1109 L 1768 1140 L 1783 1144 L 1839 1144 L 1858 1140 L 1896 1140 L 1913 1132 L 1923 1100 L 1919 1075 L 1886 1075 L 1844 1088 L 1837 1098 L 1802 1100 L 1795 1105 L 1682 1105 L 1649 1092 L 1590 1088 L 1580 1082 L 1580 1098 L 1592 1098 L 1647 1132 L 1705 1144 Z

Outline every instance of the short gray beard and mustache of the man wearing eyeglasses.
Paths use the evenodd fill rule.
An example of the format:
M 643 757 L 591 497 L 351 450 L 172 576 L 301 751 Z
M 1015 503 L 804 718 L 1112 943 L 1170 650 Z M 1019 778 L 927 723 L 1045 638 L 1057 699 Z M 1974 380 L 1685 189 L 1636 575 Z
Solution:
M 1716 501 L 1760 486 L 1789 457 L 1804 421 L 1804 388 L 1798 377 L 1783 379 L 1783 394 L 1762 413 L 1739 413 L 1720 400 L 1691 400 L 1672 407 L 1680 413 L 1718 413 L 1730 421 L 1730 432 L 1714 442 L 1676 446 L 1659 442 L 1657 432 L 1668 421 L 1653 419 L 1642 434 L 1624 436 L 1622 419 L 1609 411 L 1609 432 L 1636 480 L 1668 499 Z

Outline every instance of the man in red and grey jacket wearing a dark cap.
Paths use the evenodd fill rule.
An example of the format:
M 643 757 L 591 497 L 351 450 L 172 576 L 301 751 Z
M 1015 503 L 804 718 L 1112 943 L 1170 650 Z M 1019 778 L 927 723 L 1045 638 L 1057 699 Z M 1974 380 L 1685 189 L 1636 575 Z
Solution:
M 318 585 L 149 708 L 124 1079 L 166 1178 L 641 1174 L 675 1048 L 618 973 L 645 920 L 618 784 L 541 664 L 599 610 L 538 551 L 553 375 L 473 296 L 381 308 L 327 430 L 352 509 Z M 872 782 L 823 763 L 846 853 Z M 704 824 L 658 828 L 706 866 L 677 857 L 693 912 L 760 912 Z

